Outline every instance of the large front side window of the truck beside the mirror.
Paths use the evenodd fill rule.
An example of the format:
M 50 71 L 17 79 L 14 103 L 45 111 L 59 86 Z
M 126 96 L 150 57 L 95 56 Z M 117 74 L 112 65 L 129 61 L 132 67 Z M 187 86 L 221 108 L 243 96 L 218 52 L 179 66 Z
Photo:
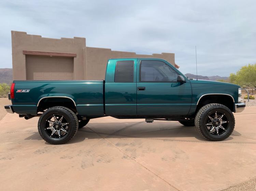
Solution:
M 176 82 L 177 72 L 162 61 L 141 60 L 141 82 Z

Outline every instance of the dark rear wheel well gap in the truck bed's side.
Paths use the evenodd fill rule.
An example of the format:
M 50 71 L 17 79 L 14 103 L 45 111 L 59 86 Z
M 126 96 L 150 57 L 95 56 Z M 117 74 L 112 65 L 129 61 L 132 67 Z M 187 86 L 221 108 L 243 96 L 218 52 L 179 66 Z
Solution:
M 75 104 L 73 100 L 69 98 L 44 98 L 42 99 L 37 107 L 37 112 L 43 112 L 46 109 L 49 109 L 54 106 L 63 106 L 71 109 L 75 113 L 77 112 Z

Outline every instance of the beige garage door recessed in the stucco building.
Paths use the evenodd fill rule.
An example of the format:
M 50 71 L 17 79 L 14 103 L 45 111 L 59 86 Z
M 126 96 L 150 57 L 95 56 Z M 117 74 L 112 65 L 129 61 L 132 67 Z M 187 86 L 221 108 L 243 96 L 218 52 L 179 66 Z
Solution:
M 73 63 L 73 58 L 26 55 L 27 80 L 73 80 Z

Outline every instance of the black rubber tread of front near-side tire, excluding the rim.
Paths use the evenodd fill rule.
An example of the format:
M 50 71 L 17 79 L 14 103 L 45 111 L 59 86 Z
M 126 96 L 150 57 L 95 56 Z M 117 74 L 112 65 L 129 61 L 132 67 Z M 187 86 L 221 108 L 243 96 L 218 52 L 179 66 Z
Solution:
M 209 114 L 213 111 L 214 112 L 215 111 L 223 112 L 229 121 L 226 132 L 221 135 L 213 135 L 207 129 L 205 121 L 209 117 Z M 196 130 L 205 139 L 207 139 L 209 141 L 225 140 L 232 134 L 232 132 L 234 130 L 234 126 L 235 126 L 235 119 L 234 119 L 234 115 L 233 115 L 232 111 L 228 107 L 226 107 L 225 105 L 222 105 L 222 104 L 216 104 L 216 103 L 207 104 L 207 105 L 203 106 L 202 108 L 200 108 L 196 114 L 196 118 L 195 118 Z

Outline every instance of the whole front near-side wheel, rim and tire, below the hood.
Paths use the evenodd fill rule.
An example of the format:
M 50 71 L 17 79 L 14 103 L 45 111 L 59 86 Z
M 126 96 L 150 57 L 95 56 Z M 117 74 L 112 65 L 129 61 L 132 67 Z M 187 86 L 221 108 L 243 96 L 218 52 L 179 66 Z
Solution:
M 196 130 L 207 140 L 222 141 L 228 138 L 235 126 L 232 111 L 222 104 L 203 106 L 195 118 Z

